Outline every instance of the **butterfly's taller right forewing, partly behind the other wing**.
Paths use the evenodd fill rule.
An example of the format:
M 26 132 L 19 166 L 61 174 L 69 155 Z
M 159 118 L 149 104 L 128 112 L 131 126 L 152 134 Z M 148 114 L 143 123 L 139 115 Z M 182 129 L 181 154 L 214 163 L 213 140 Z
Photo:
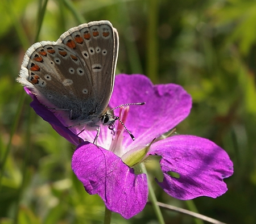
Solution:
M 81 24 L 69 29 L 57 42 L 67 45 L 82 58 L 92 84 L 96 114 L 102 114 L 113 92 L 118 57 L 118 33 L 109 21 Z M 81 84 L 77 86 L 82 88 Z

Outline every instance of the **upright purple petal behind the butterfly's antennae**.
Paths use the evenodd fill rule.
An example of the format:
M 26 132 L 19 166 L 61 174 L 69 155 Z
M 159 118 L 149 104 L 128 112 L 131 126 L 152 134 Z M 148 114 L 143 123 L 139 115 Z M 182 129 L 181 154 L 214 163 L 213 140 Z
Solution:
M 123 146 L 129 149 L 146 145 L 174 128 L 188 116 L 192 106 L 191 96 L 177 84 L 153 85 L 144 75 L 117 75 L 110 107 L 138 102 L 146 104 L 130 106 L 126 126 L 135 141 L 127 132 L 123 141 Z M 118 110 L 114 112 L 118 115 Z

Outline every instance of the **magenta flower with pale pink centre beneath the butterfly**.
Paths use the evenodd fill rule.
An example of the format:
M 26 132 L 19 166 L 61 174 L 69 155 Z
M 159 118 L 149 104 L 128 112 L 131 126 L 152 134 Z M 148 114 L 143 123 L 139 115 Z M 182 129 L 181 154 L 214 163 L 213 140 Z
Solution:
M 191 96 L 176 84 L 153 85 L 144 75 L 117 75 L 110 107 L 124 103 L 146 102 L 115 110 L 135 136 L 117 121 L 115 129 L 102 127 L 98 147 L 93 145 L 95 132 L 65 128 L 65 121 L 34 99 L 31 103 L 44 120 L 77 146 L 72 169 L 85 190 L 98 194 L 106 207 L 131 218 L 141 212 L 148 197 L 147 177 L 135 174 L 133 167 L 150 156 L 159 155 L 164 179 L 156 182 L 172 197 L 189 200 L 199 196 L 216 198 L 227 191 L 223 179 L 233 174 L 228 154 L 205 138 L 175 135 L 159 138 L 188 116 Z M 153 141 L 156 138 L 155 141 Z M 153 142 L 152 142 L 153 141 Z M 173 177 L 168 172 L 176 172 Z

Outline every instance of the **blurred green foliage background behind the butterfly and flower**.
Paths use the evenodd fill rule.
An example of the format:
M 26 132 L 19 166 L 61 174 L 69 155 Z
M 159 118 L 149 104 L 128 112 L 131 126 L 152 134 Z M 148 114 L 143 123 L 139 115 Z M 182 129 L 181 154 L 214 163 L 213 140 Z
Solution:
M 256 1 L 249 0 L 2 0 L 0 223 L 102 223 L 104 203 L 88 195 L 71 170 L 75 147 L 35 115 L 15 82 L 35 41 L 54 41 L 101 19 L 119 32 L 118 73 L 182 85 L 193 108 L 177 132 L 209 138 L 233 160 L 228 192 L 196 198 L 198 212 L 226 223 L 256 223 Z M 155 164 L 148 164 L 153 184 Z M 154 189 L 158 201 L 189 209 L 188 202 Z M 199 223 L 162 211 L 166 223 Z M 129 220 L 113 214 L 113 223 L 158 221 L 146 205 Z

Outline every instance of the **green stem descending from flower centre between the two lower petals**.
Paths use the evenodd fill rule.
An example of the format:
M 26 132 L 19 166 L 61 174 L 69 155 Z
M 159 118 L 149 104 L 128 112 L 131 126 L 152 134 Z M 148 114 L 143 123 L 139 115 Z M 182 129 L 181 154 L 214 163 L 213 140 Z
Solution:
M 161 210 L 160 210 L 159 205 L 157 204 L 158 201 L 156 200 L 156 196 L 155 196 L 154 189 L 153 189 L 153 187 L 152 187 L 152 185 L 151 185 L 151 182 L 150 182 L 150 180 L 149 180 L 149 178 L 148 178 L 147 170 L 146 170 L 146 168 L 143 166 L 143 164 L 141 164 L 140 168 L 141 168 L 142 172 L 147 175 L 148 199 L 149 199 L 149 200 L 151 201 L 151 203 L 152 203 L 152 207 L 153 207 L 153 209 L 154 209 L 154 211 L 155 211 L 156 217 L 158 217 L 158 222 L 159 222 L 160 224 L 164 224 L 163 214 L 162 214 L 162 212 L 161 212 Z

